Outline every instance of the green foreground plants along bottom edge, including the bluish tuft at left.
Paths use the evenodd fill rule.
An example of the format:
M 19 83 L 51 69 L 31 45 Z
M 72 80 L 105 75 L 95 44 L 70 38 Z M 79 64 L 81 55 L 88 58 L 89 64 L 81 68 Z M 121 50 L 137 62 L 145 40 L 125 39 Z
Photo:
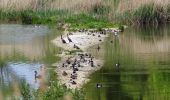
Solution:
M 20 85 L 22 98 L 24 100 L 63 100 L 65 96 L 68 96 L 70 100 L 84 100 L 82 90 L 67 89 L 56 81 L 56 77 L 56 72 L 51 70 L 48 77 L 49 87 L 45 91 L 31 90 L 29 85 L 22 81 Z

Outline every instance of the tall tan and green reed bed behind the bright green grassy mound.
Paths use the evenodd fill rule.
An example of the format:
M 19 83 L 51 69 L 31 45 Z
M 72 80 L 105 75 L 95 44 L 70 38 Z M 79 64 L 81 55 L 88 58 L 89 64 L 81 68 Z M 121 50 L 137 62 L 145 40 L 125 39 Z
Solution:
M 7 21 L 30 23 L 34 19 L 31 22 L 34 23 L 38 19 L 40 24 L 56 23 L 56 19 L 82 13 L 114 23 L 159 24 L 170 20 L 170 3 L 169 0 L 0 0 L 0 19 Z

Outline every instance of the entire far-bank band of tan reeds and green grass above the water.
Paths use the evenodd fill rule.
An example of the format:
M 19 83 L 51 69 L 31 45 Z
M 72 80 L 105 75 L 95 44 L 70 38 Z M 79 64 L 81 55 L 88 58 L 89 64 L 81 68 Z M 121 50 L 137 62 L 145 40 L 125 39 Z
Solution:
M 3 4 L 5 1 L 2 1 L 0 3 Z M 17 7 L 15 2 L 9 1 L 0 8 L 0 21 L 53 25 L 68 22 L 73 28 L 114 27 L 115 23 L 167 23 L 170 21 L 170 4 L 167 0 L 162 2 L 154 0 L 150 2 L 144 0 L 95 0 L 94 2 L 38 0 L 36 3 L 26 0 L 25 7 L 22 3 Z

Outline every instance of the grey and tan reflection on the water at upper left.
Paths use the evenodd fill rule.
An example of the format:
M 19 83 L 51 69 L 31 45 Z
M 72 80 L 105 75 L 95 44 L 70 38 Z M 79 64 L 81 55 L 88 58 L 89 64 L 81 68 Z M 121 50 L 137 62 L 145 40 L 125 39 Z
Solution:
M 14 50 L 29 58 L 41 56 L 48 32 L 46 26 L 0 25 L 1 56 L 11 55 Z

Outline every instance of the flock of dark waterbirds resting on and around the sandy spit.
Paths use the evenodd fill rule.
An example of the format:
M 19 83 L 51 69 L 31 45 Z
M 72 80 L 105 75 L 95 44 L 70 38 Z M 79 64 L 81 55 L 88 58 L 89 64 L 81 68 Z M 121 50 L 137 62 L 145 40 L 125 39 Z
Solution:
M 92 36 L 95 36 L 95 35 L 96 35 L 95 33 L 99 33 L 99 34 L 101 34 L 101 35 L 106 35 L 107 33 L 113 33 L 114 36 L 118 37 L 120 30 L 111 30 L 111 29 L 108 29 L 108 30 L 102 30 L 102 31 L 98 31 L 98 32 L 97 32 L 97 31 L 95 31 L 95 30 L 89 31 L 89 30 L 83 29 L 83 30 L 79 30 L 78 32 L 86 32 L 88 35 L 92 35 Z M 73 42 L 72 39 L 69 37 L 70 34 L 72 34 L 72 33 L 67 34 L 67 39 L 68 39 L 69 43 L 70 43 L 70 42 Z M 101 36 L 98 35 L 98 37 L 101 37 Z M 66 44 L 66 40 L 64 40 L 64 38 L 63 38 L 62 35 L 61 35 L 61 41 L 62 41 L 62 43 Z M 101 41 L 101 40 L 99 40 L 99 41 Z M 75 44 L 74 44 L 73 47 L 76 48 L 76 49 L 80 49 L 80 48 L 79 48 L 77 45 L 75 45 Z M 100 48 L 101 48 L 101 47 L 98 45 L 97 50 L 99 51 Z M 62 67 L 67 67 L 67 66 L 69 66 L 69 65 L 71 64 L 71 68 L 72 68 L 72 71 L 73 71 L 72 74 L 71 74 L 71 76 L 70 76 L 70 83 L 71 83 L 71 84 L 77 84 L 76 81 L 75 81 L 75 79 L 77 79 L 77 73 L 76 73 L 76 72 L 79 70 L 79 67 L 81 66 L 81 65 L 80 65 L 80 62 L 82 61 L 82 59 L 84 59 L 84 62 L 87 61 L 85 58 L 88 57 L 88 55 L 87 55 L 87 54 L 85 54 L 85 55 L 84 55 L 84 54 L 81 54 L 81 55 L 79 55 L 79 57 L 80 57 L 80 59 L 79 59 L 79 60 L 75 59 L 75 60 L 73 61 L 73 63 L 71 63 L 70 59 L 67 59 L 66 62 L 62 64 Z M 89 63 L 90 63 L 90 65 L 91 65 L 91 67 L 94 67 L 94 61 L 93 61 L 93 58 L 91 57 L 91 55 L 89 55 L 89 58 L 90 58 Z M 120 63 L 119 63 L 119 62 L 116 63 L 115 66 L 116 66 L 117 68 L 119 68 Z M 63 75 L 63 76 L 66 76 L 66 75 L 68 75 L 68 74 L 66 73 L 66 71 L 63 71 L 62 75 Z M 96 84 L 96 87 L 97 87 L 97 88 L 101 88 L 101 87 L 102 87 L 102 84 L 97 83 L 97 84 Z

